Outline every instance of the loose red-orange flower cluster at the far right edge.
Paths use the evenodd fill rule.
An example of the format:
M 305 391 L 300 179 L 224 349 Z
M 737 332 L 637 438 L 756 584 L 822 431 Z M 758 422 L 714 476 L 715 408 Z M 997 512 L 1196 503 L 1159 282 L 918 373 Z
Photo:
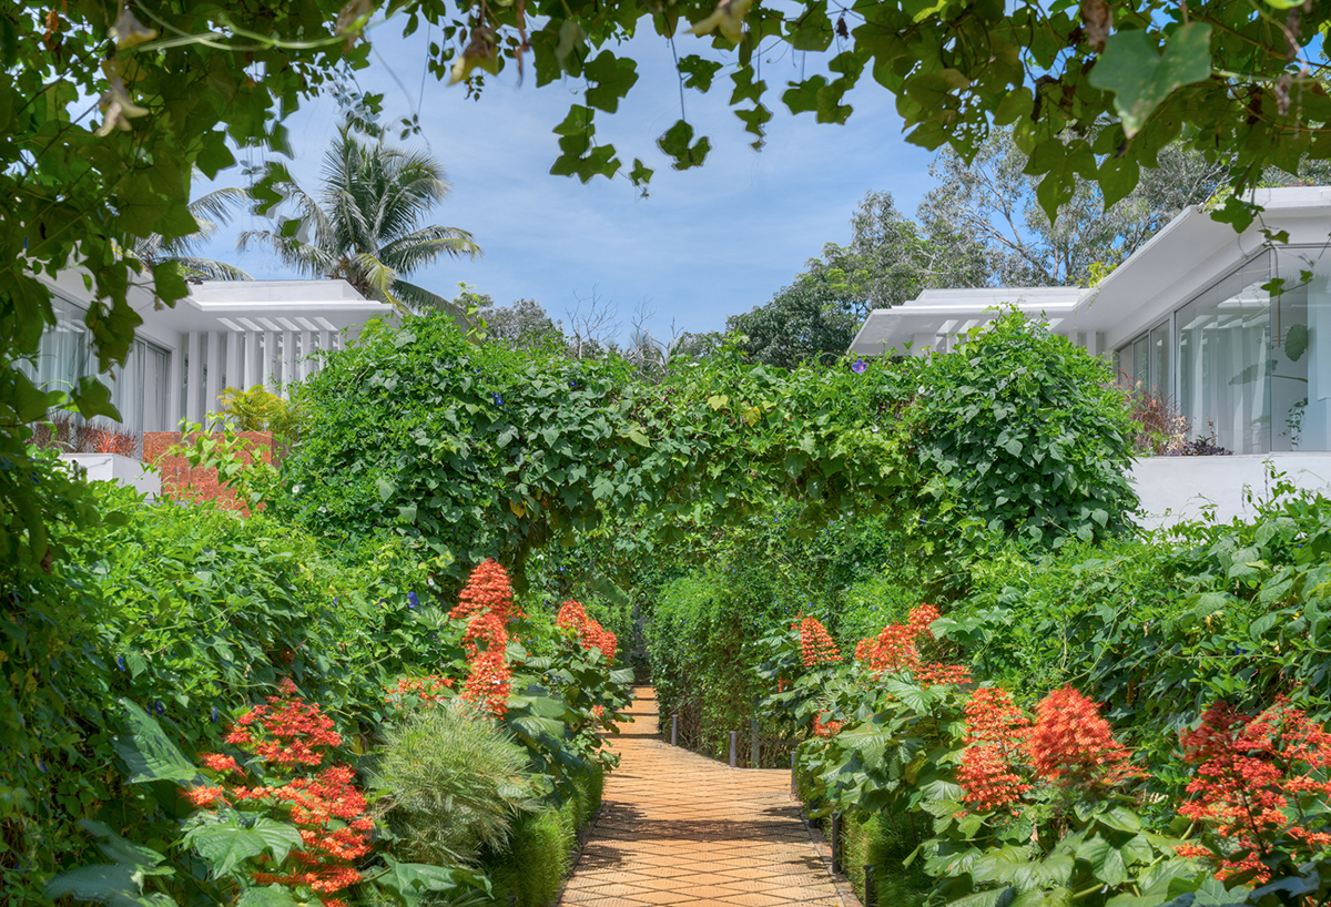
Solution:
M 1215 704 L 1181 742 L 1183 758 L 1198 769 L 1187 786 L 1197 799 L 1181 806 L 1179 814 L 1210 825 L 1239 850 L 1252 851 L 1244 860 L 1223 860 L 1218 878 L 1256 868 L 1256 878 L 1266 882 L 1268 874 L 1258 858 L 1274 838 L 1303 842 L 1308 856 L 1331 846 L 1331 834 L 1292 825 L 1287 811 L 1308 795 L 1327 810 L 1331 734 L 1302 710 L 1291 709 L 1283 697 L 1256 717 Z M 1186 846 L 1178 852 L 1213 858 L 1205 847 Z

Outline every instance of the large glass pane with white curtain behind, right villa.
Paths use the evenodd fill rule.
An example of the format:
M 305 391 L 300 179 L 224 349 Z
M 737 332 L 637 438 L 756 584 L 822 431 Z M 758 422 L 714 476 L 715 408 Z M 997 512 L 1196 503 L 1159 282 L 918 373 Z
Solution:
M 1263 254 L 1178 310 L 1178 406 L 1193 438 L 1271 450 L 1271 279 Z

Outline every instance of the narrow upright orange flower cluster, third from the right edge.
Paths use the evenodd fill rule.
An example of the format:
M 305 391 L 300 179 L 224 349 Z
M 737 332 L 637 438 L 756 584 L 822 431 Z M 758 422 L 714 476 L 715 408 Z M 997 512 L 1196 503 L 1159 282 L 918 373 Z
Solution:
M 997 686 L 972 693 L 965 715 L 966 749 L 957 769 L 965 791 L 961 799 L 980 813 L 1010 810 L 1016 815 L 1021 795 L 1032 787 L 1014 771 L 1026 761 L 1030 719 Z

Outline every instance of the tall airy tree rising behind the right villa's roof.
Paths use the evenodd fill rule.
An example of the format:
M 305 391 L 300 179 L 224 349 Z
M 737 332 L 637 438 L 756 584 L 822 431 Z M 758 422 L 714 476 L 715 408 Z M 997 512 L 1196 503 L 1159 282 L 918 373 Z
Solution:
M 1087 286 L 1093 265 L 1113 269 L 1189 205 L 1229 180 L 1229 170 L 1181 145 L 1166 145 L 1159 168 L 1143 169 L 1125 198 L 1105 207 L 1093 182 L 1077 180 L 1071 199 L 1050 222 L 1040 205 L 1040 177 L 1010 130 L 996 129 L 968 165 L 945 149 L 929 168 L 938 186 L 916 215 L 930 234 L 973 237 L 998 286 Z

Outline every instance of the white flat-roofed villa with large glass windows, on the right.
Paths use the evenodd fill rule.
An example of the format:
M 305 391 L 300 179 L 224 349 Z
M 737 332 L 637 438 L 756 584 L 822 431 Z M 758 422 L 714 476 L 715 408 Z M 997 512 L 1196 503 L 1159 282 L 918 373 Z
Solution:
M 1044 314 L 1051 330 L 1106 355 L 1126 382 L 1175 402 L 1191 436 L 1233 457 L 1151 457 L 1137 469 L 1150 513 L 1244 512 L 1271 461 L 1300 485 L 1331 484 L 1331 188 L 1258 190 L 1243 233 L 1201 207 L 1175 217 L 1097 287 L 926 290 L 877 309 L 860 355 L 948 350 L 997 305 Z M 1263 230 L 1286 233 L 1270 242 Z M 1272 295 L 1274 287 L 1280 293 Z M 1191 479 L 1189 479 L 1189 476 Z M 1198 495 L 1205 492 L 1205 500 Z

